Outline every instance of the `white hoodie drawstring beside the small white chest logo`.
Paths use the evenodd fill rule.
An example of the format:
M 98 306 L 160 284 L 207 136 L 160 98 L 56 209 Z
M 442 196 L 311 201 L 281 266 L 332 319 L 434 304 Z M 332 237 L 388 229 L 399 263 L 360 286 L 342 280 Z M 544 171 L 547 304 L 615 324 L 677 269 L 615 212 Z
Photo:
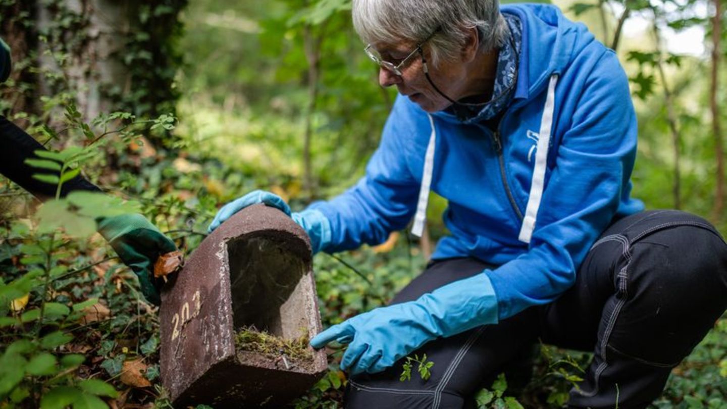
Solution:
M 545 108 L 540 121 L 540 133 L 538 134 L 537 153 L 535 154 L 535 168 L 530 186 L 528 206 L 523 218 L 523 226 L 520 229 L 518 239 L 521 242 L 529 243 L 533 237 L 535 221 L 540 207 L 540 201 L 545 187 L 545 167 L 547 165 L 547 151 L 550 146 L 550 133 L 553 128 L 553 111 L 555 111 L 555 84 L 558 83 L 558 74 L 550 76 L 550 84 L 547 87 L 547 98 Z

